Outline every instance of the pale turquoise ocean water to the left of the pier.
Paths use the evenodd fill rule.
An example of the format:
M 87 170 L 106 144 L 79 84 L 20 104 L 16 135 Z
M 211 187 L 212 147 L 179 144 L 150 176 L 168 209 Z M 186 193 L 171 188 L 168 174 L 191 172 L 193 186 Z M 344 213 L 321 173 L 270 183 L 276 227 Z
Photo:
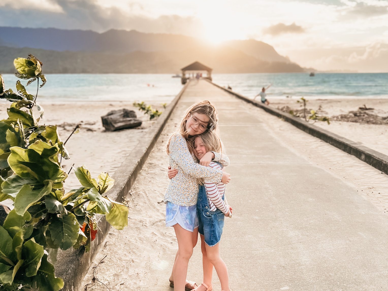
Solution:
M 16 91 L 13 74 L 3 74 L 5 88 Z M 39 88 L 38 100 L 76 101 L 147 101 L 170 102 L 182 89 L 180 78 L 172 74 L 47 74 L 47 83 Z M 25 86 L 27 81 L 20 80 Z M 36 81 L 26 87 L 36 94 Z M 39 102 L 39 101 L 38 101 Z

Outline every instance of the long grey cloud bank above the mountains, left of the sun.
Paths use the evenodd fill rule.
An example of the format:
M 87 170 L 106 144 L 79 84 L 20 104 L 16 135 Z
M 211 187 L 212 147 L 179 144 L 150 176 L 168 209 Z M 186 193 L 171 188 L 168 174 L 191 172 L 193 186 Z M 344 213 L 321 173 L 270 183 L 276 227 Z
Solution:
M 203 25 L 195 17 L 162 15 L 157 18 L 129 15 L 118 7 L 101 7 L 95 0 L 50 0 L 52 9 L 33 7 L 28 0 L 15 7 L 12 2 L 0 5 L 0 26 L 33 28 L 83 29 L 98 32 L 109 29 L 136 29 L 149 33 L 175 33 L 196 35 Z M 141 4 L 130 3 L 129 7 L 142 9 Z M 129 13 L 129 12 L 128 12 Z

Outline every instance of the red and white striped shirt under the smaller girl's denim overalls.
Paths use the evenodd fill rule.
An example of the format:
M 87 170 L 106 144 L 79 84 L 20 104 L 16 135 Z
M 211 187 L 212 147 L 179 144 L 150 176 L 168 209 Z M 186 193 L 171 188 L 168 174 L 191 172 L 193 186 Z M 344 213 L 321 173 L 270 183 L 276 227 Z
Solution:
M 215 169 L 222 169 L 220 165 L 213 161 L 210 162 L 209 166 Z M 223 213 L 228 214 L 229 207 L 222 200 L 222 197 L 225 194 L 225 184 L 222 182 L 220 182 L 219 184 L 215 184 L 213 182 L 210 182 L 209 180 L 205 180 L 204 185 L 206 189 L 206 196 L 208 197 L 210 211 L 216 211 L 218 208 Z

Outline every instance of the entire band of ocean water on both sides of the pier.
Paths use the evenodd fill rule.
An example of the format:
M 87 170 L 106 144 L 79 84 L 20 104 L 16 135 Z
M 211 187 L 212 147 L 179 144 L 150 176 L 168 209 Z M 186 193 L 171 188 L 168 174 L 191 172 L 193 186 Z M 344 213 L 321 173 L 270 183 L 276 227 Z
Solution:
M 53 102 L 150 101 L 170 102 L 181 90 L 180 78 L 173 74 L 48 74 L 38 99 Z M 381 98 L 388 99 L 388 73 L 257 73 L 213 74 L 213 82 L 253 98 L 263 86 L 268 98 Z M 13 74 L 3 74 L 5 88 L 16 90 Z M 25 85 L 27 81 L 21 80 Z M 36 93 L 36 82 L 27 87 Z

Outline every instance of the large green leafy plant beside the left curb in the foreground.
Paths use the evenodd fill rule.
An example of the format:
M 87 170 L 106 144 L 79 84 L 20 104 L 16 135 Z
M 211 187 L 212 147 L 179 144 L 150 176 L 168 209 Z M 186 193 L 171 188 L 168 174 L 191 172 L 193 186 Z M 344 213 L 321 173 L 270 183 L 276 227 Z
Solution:
M 15 59 L 14 65 L 18 78 L 29 80 L 27 85 L 37 80 L 38 88 L 34 96 L 17 81 L 17 93 L 4 90 L 0 75 L 0 98 L 12 102 L 8 118 L 0 120 L 0 201 L 14 201 L 0 226 L 0 289 L 57 291 L 64 282 L 55 277 L 49 255 L 53 262 L 59 248 L 83 246 L 88 251 L 97 234 L 96 215 L 105 215 L 121 230 L 128 224 L 128 208 L 106 196 L 114 184 L 108 173 L 96 180 L 83 166 L 74 168 L 81 187 L 65 193 L 68 173 L 61 160 L 69 159 L 69 138 L 62 142 L 56 125 L 38 124 L 44 111 L 36 99 L 46 83 L 42 62 L 29 55 Z

